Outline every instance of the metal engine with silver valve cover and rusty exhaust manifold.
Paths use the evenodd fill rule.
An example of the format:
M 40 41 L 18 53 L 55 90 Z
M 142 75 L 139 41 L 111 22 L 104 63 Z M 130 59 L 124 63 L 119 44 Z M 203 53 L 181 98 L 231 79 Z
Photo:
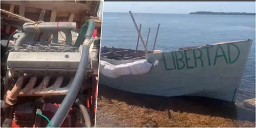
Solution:
M 72 45 L 71 31 L 75 30 L 75 27 L 76 25 L 70 22 L 23 25 L 24 32 L 18 33 L 6 62 L 7 78 L 14 79 L 13 82 L 7 83 L 13 87 L 6 91 L 6 104 L 16 104 L 17 97 L 66 95 L 82 55 L 82 46 L 77 48 Z M 63 31 L 66 37 L 62 44 L 58 43 L 59 31 Z M 35 37 L 38 37 L 39 33 L 41 37 L 38 41 Z M 52 42 L 49 43 L 45 37 L 50 33 Z M 92 47 L 97 49 L 93 45 Z M 85 79 L 89 73 L 93 73 L 93 68 L 97 67 L 95 51 L 98 50 L 89 53 Z

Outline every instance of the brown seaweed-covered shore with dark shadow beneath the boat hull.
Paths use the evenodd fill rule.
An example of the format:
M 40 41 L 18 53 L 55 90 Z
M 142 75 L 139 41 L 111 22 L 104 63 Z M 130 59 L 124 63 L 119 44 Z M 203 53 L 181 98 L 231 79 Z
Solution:
M 99 85 L 96 126 L 255 125 L 254 111 L 242 111 L 242 119 L 237 111 L 222 100 L 142 95 Z

